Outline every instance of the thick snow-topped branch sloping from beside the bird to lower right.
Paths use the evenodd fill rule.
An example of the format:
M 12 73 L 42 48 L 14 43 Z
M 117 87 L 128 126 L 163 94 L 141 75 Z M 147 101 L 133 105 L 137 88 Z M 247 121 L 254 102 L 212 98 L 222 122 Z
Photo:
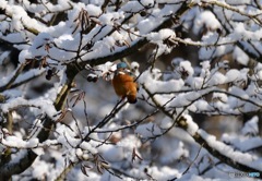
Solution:
M 198 124 L 193 122 L 190 116 L 184 114 L 183 109 L 180 113 L 176 114 L 174 111 L 168 110 L 168 108 L 162 106 L 157 99 L 152 97 L 150 89 L 143 86 L 145 90 L 148 93 L 150 98 L 153 102 L 158 107 L 167 117 L 174 120 L 174 123 L 162 134 L 154 135 L 154 137 L 158 137 L 163 134 L 166 134 L 172 126 L 178 126 L 187 131 L 196 143 L 203 145 L 203 147 L 210 152 L 214 157 L 218 158 L 221 161 L 241 171 L 249 172 L 261 172 L 262 167 L 260 167 L 260 159 L 253 157 L 250 154 L 243 154 L 241 152 L 234 150 L 233 147 L 216 141 L 215 136 L 207 134 L 205 131 L 199 129 Z M 190 104 L 189 104 L 190 105 Z M 188 106 L 189 106 L 188 105 Z M 255 167 L 254 167 L 255 166 Z

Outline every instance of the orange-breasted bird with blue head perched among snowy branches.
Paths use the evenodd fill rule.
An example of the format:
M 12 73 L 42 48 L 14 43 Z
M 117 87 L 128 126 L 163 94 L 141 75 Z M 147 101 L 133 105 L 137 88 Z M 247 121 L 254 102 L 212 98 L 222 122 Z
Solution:
M 128 70 L 127 63 L 120 62 L 117 64 L 111 83 L 116 94 L 122 99 L 127 97 L 130 104 L 138 101 L 136 93 L 139 85 L 134 80 L 135 75 Z

